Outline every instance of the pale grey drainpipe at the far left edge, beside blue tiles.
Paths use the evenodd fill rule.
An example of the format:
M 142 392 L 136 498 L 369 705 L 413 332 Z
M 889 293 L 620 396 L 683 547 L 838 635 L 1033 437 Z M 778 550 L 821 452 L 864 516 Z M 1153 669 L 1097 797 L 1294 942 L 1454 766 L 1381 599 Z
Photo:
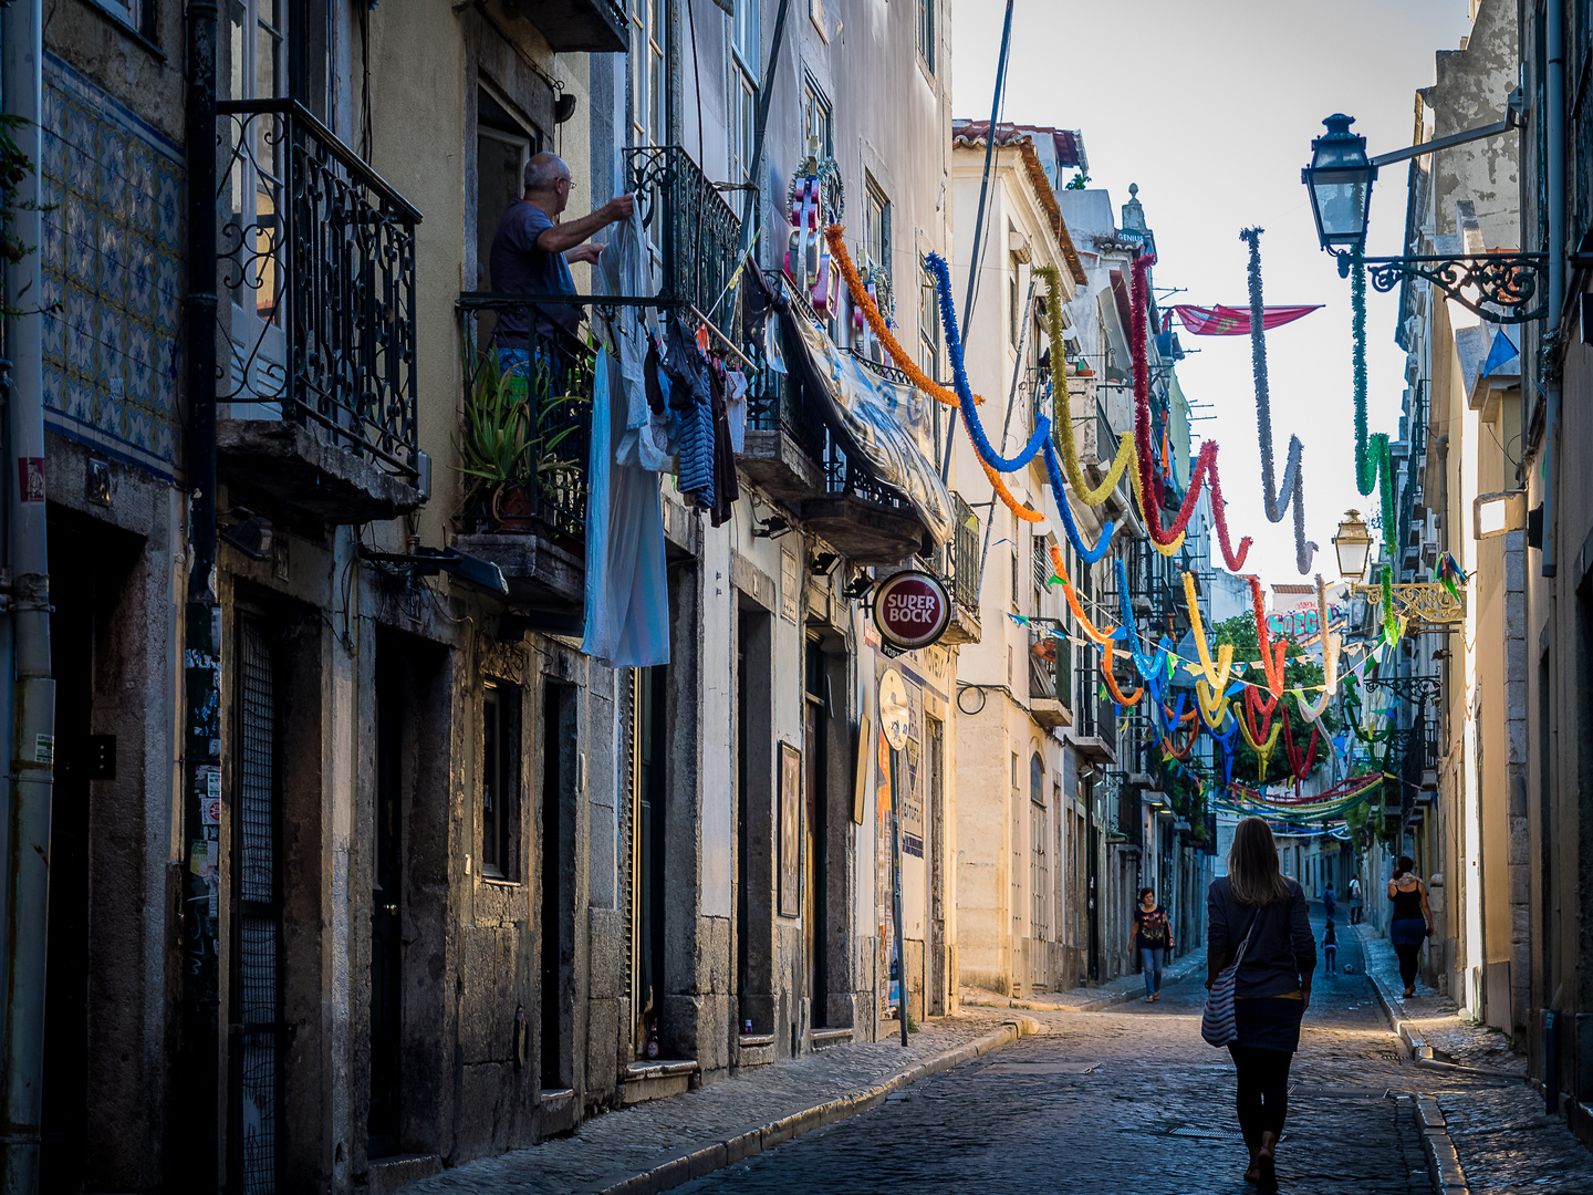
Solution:
M 49 919 L 49 795 L 54 787 L 56 682 L 49 676 L 49 540 L 45 523 L 45 366 L 38 166 L 43 137 L 41 0 L 18 0 L 3 16 L 5 110 L 25 118 L 18 147 L 35 164 L 16 190 L 14 228 L 35 250 L 6 268 L 5 298 L 27 314 L 6 320 L 11 386 L 6 421 L 16 480 L 8 480 L 13 601 L 11 809 L 5 887 L 5 1170 L 0 1190 L 38 1190 L 45 1077 L 45 961 Z M 76 880 L 81 883 L 81 878 Z

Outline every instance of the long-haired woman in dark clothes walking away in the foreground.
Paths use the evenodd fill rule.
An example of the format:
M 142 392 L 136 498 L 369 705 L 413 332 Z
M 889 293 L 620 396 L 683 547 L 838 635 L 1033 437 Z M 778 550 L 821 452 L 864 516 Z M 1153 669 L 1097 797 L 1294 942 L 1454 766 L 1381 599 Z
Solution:
M 1239 1128 L 1251 1149 L 1244 1177 L 1278 1190 L 1273 1170 L 1289 1114 L 1289 1064 L 1300 1048 L 1300 1020 L 1311 1005 L 1316 938 L 1305 892 L 1278 870 L 1278 844 L 1260 817 L 1246 817 L 1233 835 L 1228 875 L 1206 891 L 1206 986 L 1239 953 L 1228 1045 L 1238 1071 Z

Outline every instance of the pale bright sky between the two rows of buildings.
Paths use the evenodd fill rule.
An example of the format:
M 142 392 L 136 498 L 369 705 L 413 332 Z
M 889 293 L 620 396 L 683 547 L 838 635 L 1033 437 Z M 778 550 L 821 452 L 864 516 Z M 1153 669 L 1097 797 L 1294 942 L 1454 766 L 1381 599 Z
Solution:
M 1004 0 L 954 0 L 951 86 L 957 118 L 989 120 Z M 1273 304 L 1322 311 L 1266 333 L 1273 459 L 1282 478 L 1289 437 L 1305 445 L 1311 572 L 1338 578 L 1332 537 L 1346 508 L 1370 513 L 1354 484 L 1349 282 L 1321 252 L 1300 167 L 1322 118 L 1344 112 L 1370 155 L 1411 143 L 1415 92 L 1434 81 L 1434 53 L 1470 32 L 1466 0 L 1016 0 L 1004 121 L 1078 129 L 1090 186 L 1115 209 L 1139 185 L 1157 234 L 1155 285 L 1187 287 L 1172 303 L 1247 308 L 1249 250 L 1260 226 L 1262 282 Z M 1395 255 L 1405 228 L 1405 166 L 1372 194 L 1367 253 Z M 1405 354 L 1394 344 L 1399 292 L 1367 290 L 1368 427 L 1399 432 Z M 1177 327 L 1174 323 L 1174 327 Z M 1192 352 L 1179 381 L 1193 430 L 1220 445 L 1235 542 L 1265 583 L 1298 583 L 1294 511 L 1268 523 L 1249 336 L 1179 335 Z M 1222 556 L 1212 548 L 1212 564 Z

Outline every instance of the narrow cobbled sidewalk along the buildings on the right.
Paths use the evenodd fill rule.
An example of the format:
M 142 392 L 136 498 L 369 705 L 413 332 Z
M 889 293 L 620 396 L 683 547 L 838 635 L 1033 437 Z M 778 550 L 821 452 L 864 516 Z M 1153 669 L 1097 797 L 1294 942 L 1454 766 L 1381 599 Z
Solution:
M 1384 980 L 1392 1015 L 1410 1021 L 1411 1029 L 1434 1048 L 1435 1058 L 1513 1071 L 1525 1077 L 1525 1060 L 1512 1053 L 1504 1034 L 1461 1020 L 1454 1015 L 1454 1004 L 1426 985 L 1418 985 L 1413 999 L 1403 999 L 1394 948 L 1367 929 L 1362 943 L 1365 959 Z M 1474 1195 L 1593 1192 L 1593 1154 L 1572 1136 L 1564 1120 L 1544 1114 L 1542 1096 L 1525 1082 L 1488 1083 L 1437 1068 L 1419 1068 L 1418 1074 L 1443 1111 L 1450 1141 Z

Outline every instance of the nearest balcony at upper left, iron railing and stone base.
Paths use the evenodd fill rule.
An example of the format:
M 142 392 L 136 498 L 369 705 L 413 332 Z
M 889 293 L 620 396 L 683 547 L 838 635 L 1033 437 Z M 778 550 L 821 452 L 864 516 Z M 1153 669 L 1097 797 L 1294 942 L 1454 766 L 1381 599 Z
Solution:
M 408 513 L 421 214 L 295 100 L 225 100 L 221 478 L 331 524 Z

